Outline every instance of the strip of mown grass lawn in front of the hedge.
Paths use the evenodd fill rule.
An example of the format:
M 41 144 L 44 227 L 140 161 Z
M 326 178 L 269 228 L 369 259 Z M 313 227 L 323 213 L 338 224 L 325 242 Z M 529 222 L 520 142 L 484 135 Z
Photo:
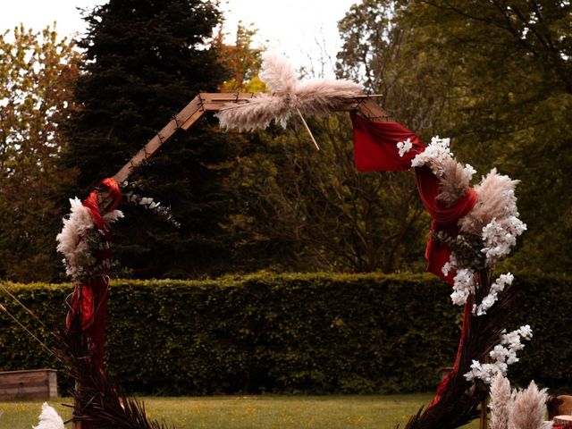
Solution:
M 144 398 L 147 416 L 175 429 L 393 429 L 426 405 L 432 394 L 375 396 L 217 396 Z M 66 420 L 70 408 L 51 400 Z M 0 427 L 31 429 L 38 425 L 41 402 L 0 402 Z M 66 425 L 71 427 L 71 425 Z M 478 427 L 477 422 L 467 428 Z

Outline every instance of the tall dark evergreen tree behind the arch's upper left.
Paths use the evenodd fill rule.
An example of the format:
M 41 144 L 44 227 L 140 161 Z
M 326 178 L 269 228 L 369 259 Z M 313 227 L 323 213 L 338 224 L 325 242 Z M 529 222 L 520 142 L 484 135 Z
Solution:
M 208 45 L 221 15 L 201 0 L 110 0 L 89 13 L 82 106 L 66 130 L 66 166 L 80 170 L 83 198 L 111 176 L 200 91 L 214 91 L 225 71 Z M 137 192 L 172 206 L 180 229 L 143 208 L 123 204 L 114 255 L 122 275 L 188 277 L 219 273 L 228 264 L 221 228 L 231 209 L 225 175 L 230 138 L 202 120 L 178 133 L 132 176 Z

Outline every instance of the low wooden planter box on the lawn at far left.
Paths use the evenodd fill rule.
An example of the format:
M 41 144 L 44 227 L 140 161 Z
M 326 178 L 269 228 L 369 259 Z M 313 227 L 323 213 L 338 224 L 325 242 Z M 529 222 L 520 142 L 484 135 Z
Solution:
M 0 400 L 48 400 L 55 396 L 55 369 L 0 372 Z

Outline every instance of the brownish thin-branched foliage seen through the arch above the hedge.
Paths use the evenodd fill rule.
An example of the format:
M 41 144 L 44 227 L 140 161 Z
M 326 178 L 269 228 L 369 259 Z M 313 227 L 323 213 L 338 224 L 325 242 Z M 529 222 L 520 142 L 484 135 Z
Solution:
M 237 229 L 280 270 L 363 273 L 419 268 L 425 214 L 413 176 L 357 172 L 347 115 L 295 118 L 241 158 Z M 247 246 L 248 247 L 248 246 Z M 260 260 L 260 259 L 258 259 Z

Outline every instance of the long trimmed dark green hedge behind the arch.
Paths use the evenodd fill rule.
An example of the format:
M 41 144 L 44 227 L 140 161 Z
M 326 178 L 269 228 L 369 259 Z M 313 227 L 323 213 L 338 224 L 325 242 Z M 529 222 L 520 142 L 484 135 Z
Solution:
M 518 282 L 508 328 L 530 324 L 534 338 L 510 378 L 572 387 L 569 282 Z M 8 286 L 48 326 L 63 323 L 70 284 Z M 115 281 L 106 367 L 133 393 L 428 391 L 456 353 L 461 309 L 449 294 L 449 285 L 429 275 Z M 29 321 L 7 297 L 0 302 Z M 0 347 L 3 370 L 56 366 L 5 315 Z

